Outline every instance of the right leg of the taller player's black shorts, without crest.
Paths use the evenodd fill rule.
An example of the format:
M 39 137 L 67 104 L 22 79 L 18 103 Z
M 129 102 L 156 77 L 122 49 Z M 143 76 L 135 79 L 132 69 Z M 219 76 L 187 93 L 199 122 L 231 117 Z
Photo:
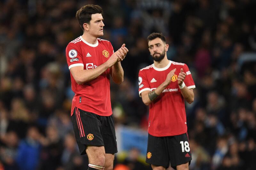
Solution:
M 117 153 L 116 131 L 113 116 L 101 116 L 102 122 L 102 138 L 104 141 L 105 152 Z

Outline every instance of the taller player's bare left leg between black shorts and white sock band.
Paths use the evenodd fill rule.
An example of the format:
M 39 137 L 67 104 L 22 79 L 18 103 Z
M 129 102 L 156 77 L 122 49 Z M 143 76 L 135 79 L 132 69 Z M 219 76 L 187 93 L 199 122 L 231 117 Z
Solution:
M 86 154 L 88 155 L 90 164 L 104 166 L 105 164 L 104 146 L 87 146 Z

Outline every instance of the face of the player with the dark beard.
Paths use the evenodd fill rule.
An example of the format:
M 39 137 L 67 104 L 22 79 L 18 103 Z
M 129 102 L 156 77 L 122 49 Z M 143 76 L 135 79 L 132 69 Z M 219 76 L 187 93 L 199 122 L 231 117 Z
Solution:
M 168 44 L 165 44 L 160 38 L 149 41 L 148 47 L 150 55 L 155 61 L 163 60 L 168 50 Z

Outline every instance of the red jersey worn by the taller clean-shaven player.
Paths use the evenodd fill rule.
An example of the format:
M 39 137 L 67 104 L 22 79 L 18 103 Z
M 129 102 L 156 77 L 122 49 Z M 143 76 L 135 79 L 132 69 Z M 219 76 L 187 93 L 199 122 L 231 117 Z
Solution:
M 98 38 L 96 44 L 90 44 L 80 36 L 71 41 L 66 48 L 68 68 L 83 66 L 84 70 L 94 69 L 105 63 L 113 52 L 113 47 L 107 40 Z M 71 115 L 73 115 L 75 107 L 101 116 L 112 115 L 110 71 L 110 68 L 108 68 L 97 78 L 82 85 L 77 84 L 70 73 L 72 91 L 75 92 L 72 100 Z

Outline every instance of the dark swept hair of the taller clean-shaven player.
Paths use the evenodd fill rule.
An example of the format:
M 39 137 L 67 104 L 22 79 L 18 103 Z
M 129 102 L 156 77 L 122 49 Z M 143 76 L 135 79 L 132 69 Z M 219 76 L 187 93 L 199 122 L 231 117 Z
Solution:
M 92 14 L 101 14 L 102 13 L 102 8 L 99 5 L 84 5 L 80 10 L 76 12 L 76 19 L 79 22 L 79 25 L 84 31 L 84 23 L 89 24 L 89 22 L 92 19 Z

